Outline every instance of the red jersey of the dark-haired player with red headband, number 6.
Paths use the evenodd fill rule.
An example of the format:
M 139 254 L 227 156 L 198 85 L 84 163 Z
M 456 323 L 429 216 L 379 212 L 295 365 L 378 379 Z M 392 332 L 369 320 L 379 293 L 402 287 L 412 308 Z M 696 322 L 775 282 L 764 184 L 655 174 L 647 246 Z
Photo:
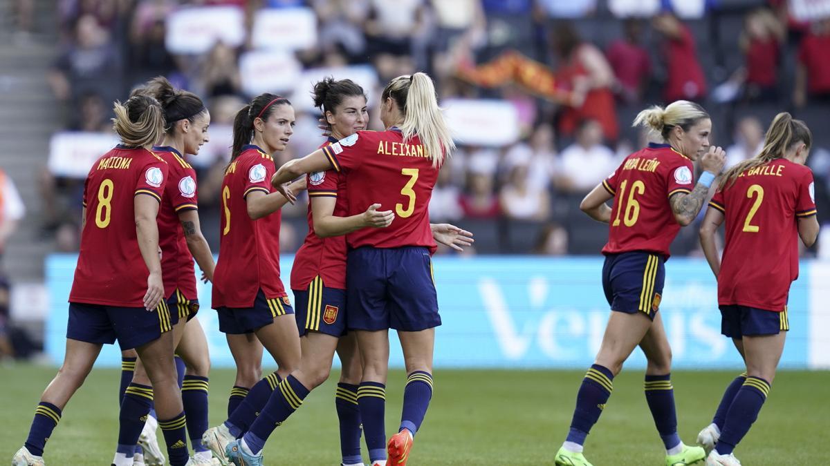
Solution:
M 266 299 L 286 296 L 280 279 L 281 212 L 251 220 L 245 201 L 254 191 L 271 193 L 274 172 L 274 159 L 250 144 L 225 171 L 213 308 L 251 308 L 260 289 Z

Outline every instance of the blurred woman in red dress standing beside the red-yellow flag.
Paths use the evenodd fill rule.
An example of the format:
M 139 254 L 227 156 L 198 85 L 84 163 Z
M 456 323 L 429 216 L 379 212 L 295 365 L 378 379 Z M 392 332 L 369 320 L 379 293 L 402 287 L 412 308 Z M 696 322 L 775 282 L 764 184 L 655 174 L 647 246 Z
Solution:
M 611 92 L 614 75 L 602 51 L 579 38 L 569 23 L 560 23 L 553 30 L 554 51 L 559 58 L 556 85 L 569 90 L 574 98 L 561 109 L 559 133 L 572 136 L 580 120 L 596 120 L 605 138 L 618 137 L 617 114 Z

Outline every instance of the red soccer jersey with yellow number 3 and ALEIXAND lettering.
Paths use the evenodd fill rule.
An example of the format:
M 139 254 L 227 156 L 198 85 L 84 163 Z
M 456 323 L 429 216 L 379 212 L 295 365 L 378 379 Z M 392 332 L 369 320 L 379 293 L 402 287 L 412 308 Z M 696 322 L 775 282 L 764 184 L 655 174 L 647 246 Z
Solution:
M 403 133 L 397 128 L 358 131 L 324 147 L 323 152 L 334 170 L 346 174 L 349 216 L 375 203 L 380 204 L 378 211 L 395 213 L 392 225 L 386 228 L 349 233 L 349 247 L 423 246 L 435 252 L 427 207 L 438 169 L 432 167 L 432 158 L 417 136 L 403 143 Z

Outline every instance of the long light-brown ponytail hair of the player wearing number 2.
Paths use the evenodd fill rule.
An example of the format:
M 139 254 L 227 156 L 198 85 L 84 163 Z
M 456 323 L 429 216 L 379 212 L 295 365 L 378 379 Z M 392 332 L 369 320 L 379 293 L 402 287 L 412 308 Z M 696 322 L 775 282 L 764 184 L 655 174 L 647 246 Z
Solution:
M 727 170 L 720 178 L 720 188 L 723 189 L 727 183 L 734 184 L 740 174 L 747 170 L 760 167 L 776 158 L 784 158 L 787 150 L 797 143 L 804 143 L 808 148 L 813 145 L 813 133 L 810 133 L 807 124 L 800 119 L 793 119 L 793 115 L 787 112 L 775 115 L 764 136 L 764 148 L 761 152 Z

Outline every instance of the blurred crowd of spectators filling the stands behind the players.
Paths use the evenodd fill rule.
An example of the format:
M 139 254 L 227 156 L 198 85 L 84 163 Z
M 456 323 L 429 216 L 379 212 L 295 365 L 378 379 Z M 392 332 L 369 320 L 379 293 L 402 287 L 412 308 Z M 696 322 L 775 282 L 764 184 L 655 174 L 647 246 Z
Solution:
M 217 41 L 207 53 L 173 53 L 168 18 L 183 8 L 237 7 L 249 30 L 268 8 L 309 9 L 317 41 L 292 52 L 302 70 L 369 65 L 381 88 L 394 76 L 425 70 L 442 100 L 509 102 L 518 140 L 498 147 L 460 141 L 430 204 L 433 221 L 474 231 L 480 253 L 596 254 L 607 230 L 579 212 L 579 199 L 647 143 L 647 134 L 631 128 L 637 111 L 678 99 L 710 111 L 713 143 L 728 146 L 729 164 L 758 152 L 765 125 L 778 111 L 807 119 L 817 136 L 811 163 L 824 221 L 830 154 L 823 147 L 830 141 L 818 124 L 830 109 L 830 19 L 799 21 L 783 0 L 734 7 L 727 0 L 701 1 L 692 12 L 666 8 L 678 2 L 662 3 L 645 17 L 623 18 L 618 15 L 636 10 L 638 2 L 58 0 L 61 51 L 49 80 L 66 131 L 110 131 L 111 102 L 155 75 L 203 96 L 212 141 L 191 162 L 198 170 L 203 231 L 214 248 L 229 128 L 251 97 L 240 57 L 254 44 L 248 31 L 239 46 Z M 508 52 L 526 58 L 516 75 L 532 70 L 549 76 L 543 84 L 554 84 L 502 79 L 498 66 Z M 498 79 L 471 80 L 471 73 Z M 367 91 L 371 129 L 380 129 L 378 89 Z M 322 141 L 318 114 L 297 110 L 295 134 L 277 163 Z M 56 237 L 58 250 L 76 250 L 83 179 L 47 168 L 42 178 L 45 234 Z M 305 234 L 305 205 L 286 207 L 283 215 L 281 248 L 294 251 Z M 681 235 L 676 247 L 693 252 L 696 235 Z

